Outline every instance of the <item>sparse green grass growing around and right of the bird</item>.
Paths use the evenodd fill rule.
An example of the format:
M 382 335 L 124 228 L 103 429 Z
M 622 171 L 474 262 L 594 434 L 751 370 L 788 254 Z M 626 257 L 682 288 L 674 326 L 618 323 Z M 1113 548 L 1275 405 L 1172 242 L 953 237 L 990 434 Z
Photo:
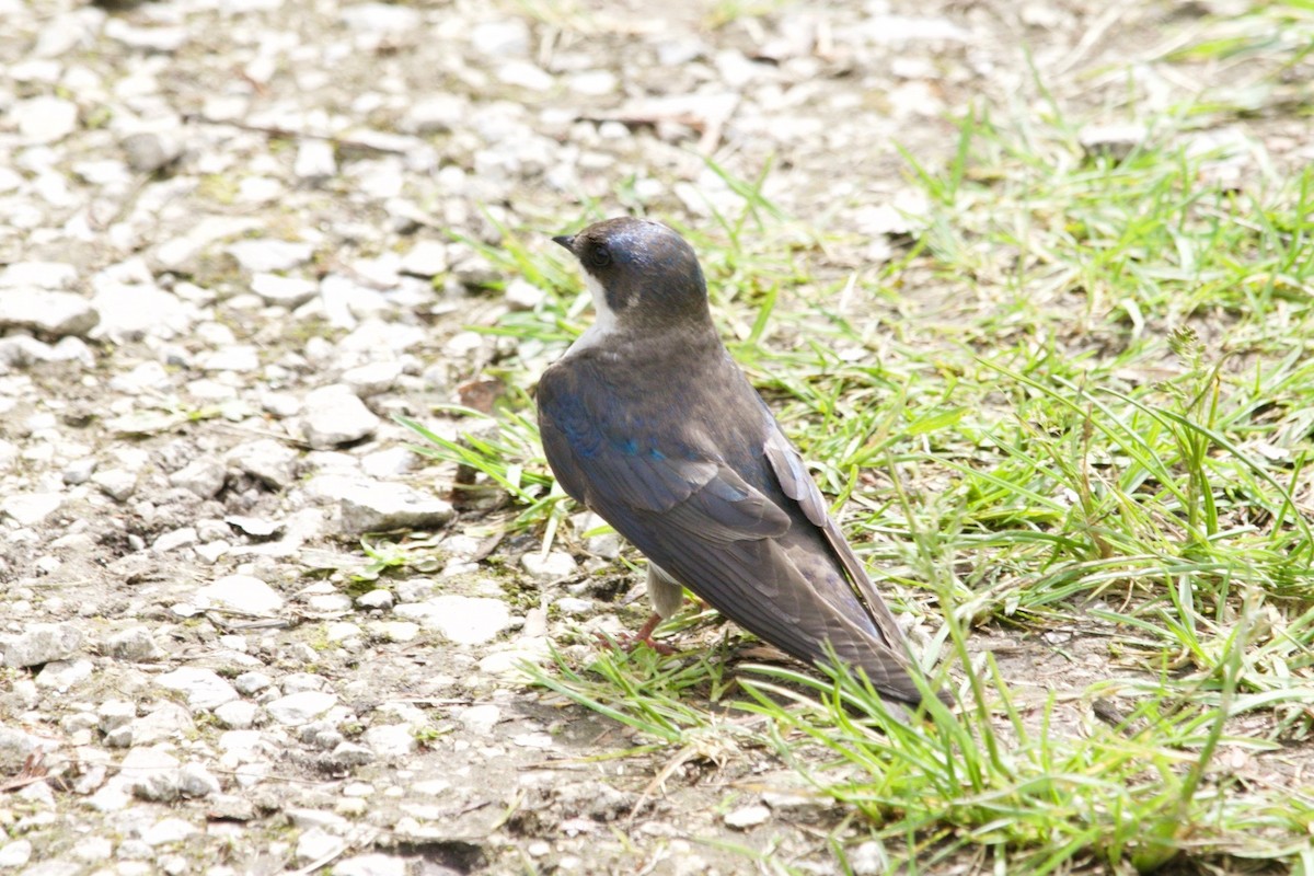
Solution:
M 1173 60 L 1277 51 L 1263 70 L 1285 75 L 1311 22 L 1271 4 Z M 738 214 L 681 229 L 855 548 L 936 628 L 924 658 L 957 713 L 903 724 L 842 668 L 732 671 L 728 646 L 557 653 L 533 683 L 629 726 L 618 756 L 773 753 L 850 813 L 841 868 L 875 839 L 907 872 L 1314 873 L 1314 169 L 1257 162 L 1221 186 L 1184 146 L 1240 112 L 1215 97 L 1122 160 L 1084 155 L 1058 114 L 970 113 L 945 167 L 909 156 L 922 231 L 861 274 L 829 268 L 855 242 L 784 217 L 762 179 L 733 181 Z M 505 232 L 486 255 L 548 292 L 494 330 L 519 339 L 523 386 L 587 299 Z M 497 420 L 438 453 L 552 541 L 566 503 L 528 397 Z M 974 646 L 992 636 L 1016 649 Z

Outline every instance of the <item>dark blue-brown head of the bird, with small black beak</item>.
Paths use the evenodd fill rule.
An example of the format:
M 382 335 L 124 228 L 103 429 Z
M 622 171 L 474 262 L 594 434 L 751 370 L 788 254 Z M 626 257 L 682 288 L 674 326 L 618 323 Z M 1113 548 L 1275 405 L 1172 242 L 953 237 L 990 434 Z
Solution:
M 570 250 L 589 278 L 602 288 L 622 327 L 711 324 L 698 256 L 665 225 L 620 217 L 553 240 Z

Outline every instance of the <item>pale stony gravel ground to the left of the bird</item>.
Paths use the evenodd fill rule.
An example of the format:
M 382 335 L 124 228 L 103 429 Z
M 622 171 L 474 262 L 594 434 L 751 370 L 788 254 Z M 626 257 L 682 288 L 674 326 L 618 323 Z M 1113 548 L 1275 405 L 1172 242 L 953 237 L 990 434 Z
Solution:
M 455 435 L 431 407 L 498 355 L 466 327 L 541 294 L 444 231 L 707 222 L 703 155 L 774 156 L 773 200 L 879 257 L 896 138 L 933 162 L 946 113 L 1039 105 L 1024 42 L 1099 121 L 1208 9 L 646 8 L 0 0 L 0 869 L 749 868 L 720 838 L 828 871 L 837 813 L 767 755 L 649 799 L 662 764 L 579 759 L 624 734 L 516 676 L 548 602 L 620 623 L 560 583 L 583 557 L 453 517 L 392 420 Z M 442 561 L 361 586 L 393 528 Z

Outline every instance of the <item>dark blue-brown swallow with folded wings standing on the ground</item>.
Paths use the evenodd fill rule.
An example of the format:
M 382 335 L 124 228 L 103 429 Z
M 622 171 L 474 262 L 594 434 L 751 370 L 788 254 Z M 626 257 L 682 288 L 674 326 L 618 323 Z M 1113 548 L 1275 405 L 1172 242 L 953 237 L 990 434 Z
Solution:
M 805 663 L 829 646 L 887 701 L 921 704 L 899 624 L 716 331 L 694 248 L 633 217 L 552 240 L 595 318 L 539 378 L 539 432 L 565 493 L 648 558 L 639 637 L 689 588 Z

